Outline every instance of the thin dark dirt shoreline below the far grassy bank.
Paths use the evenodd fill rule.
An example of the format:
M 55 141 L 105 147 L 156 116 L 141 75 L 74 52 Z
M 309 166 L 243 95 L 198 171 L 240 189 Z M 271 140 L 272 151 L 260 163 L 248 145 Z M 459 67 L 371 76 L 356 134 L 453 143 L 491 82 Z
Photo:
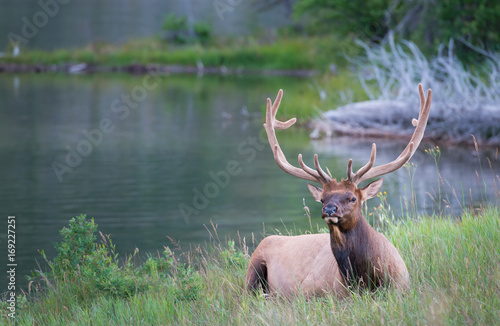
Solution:
M 120 66 L 107 66 L 89 63 L 64 63 L 64 64 L 18 64 L 1 63 L 0 73 L 69 73 L 69 74 L 90 74 L 90 73 L 129 73 L 132 75 L 145 75 L 148 73 L 165 74 L 219 74 L 219 75 L 262 75 L 262 76 L 292 76 L 310 77 L 316 75 L 316 70 L 306 69 L 245 69 L 227 67 L 196 67 L 180 65 L 160 65 L 160 64 L 129 64 Z

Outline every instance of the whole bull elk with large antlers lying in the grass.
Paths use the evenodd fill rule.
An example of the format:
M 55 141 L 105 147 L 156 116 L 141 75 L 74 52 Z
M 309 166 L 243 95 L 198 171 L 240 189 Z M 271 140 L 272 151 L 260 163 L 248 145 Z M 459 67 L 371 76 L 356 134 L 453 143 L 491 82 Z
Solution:
M 340 182 L 323 171 L 316 154 L 315 169 L 304 164 L 301 154 L 298 157 L 301 168 L 288 163 L 275 129 L 287 129 L 296 119 L 276 120 L 282 90 L 274 103 L 267 99 L 264 128 L 274 159 L 283 171 L 321 185 L 322 188 L 312 184 L 308 187 L 313 198 L 322 203 L 321 216 L 330 234 L 269 236 L 262 240 L 250 258 L 245 277 L 248 290 L 255 291 L 262 286 L 265 293 L 285 296 L 300 292 L 310 296 L 333 291 L 338 297 L 344 297 L 346 287 L 353 281 L 370 289 L 389 284 L 401 291 L 408 288 L 408 270 L 398 250 L 368 224 L 361 212 L 362 203 L 376 196 L 383 179 L 362 188 L 358 185 L 401 168 L 415 153 L 424 135 L 432 100 L 430 89 L 427 99 L 421 84 L 418 91 L 420 112 L 418 120 L 412 120 L 415 131 L 398 158 L 373 167 L 376 156 L 376 145 L 373 144 L 368 163 L 353 173 L 352 159 L 349 160 L 347 179 Z

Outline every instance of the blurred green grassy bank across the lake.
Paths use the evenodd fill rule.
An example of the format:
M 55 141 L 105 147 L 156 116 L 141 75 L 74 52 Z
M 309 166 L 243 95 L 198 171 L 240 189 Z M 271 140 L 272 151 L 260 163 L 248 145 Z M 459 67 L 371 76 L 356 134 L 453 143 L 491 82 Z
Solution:
M 108 66 L 163 64 L 234 69 L 318 69 L 327 70 L 342 53 L 333 37 L 279 38 L 260 43 L 253 38 L 201 46 L 169 45 L 156 39 L 129 41 L 123 45 L 92 44 L 74 50 L 39 51 L 21 49 L 17 57 L 4 56 L 0 62 L 17 64 L 89 63 Z

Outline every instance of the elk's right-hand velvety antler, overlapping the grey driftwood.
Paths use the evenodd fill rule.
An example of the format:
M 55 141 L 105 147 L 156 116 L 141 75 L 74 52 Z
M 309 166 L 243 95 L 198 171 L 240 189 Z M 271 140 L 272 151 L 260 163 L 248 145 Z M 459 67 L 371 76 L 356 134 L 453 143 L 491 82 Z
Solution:
M 410 160 L 424 137 L 424 131 L 427 126 L 427 119 L 429 118 L 432 101 L 431 89 L 427 91 L 427 99 L 425 98 L 422 84 L 418 84 L 418 92 L 420 95 L 420 112 L 418 114 L 418 120 L 412 120 L 415 131 L 413 132 L 413 136 L 403 152 L 394 161 L 372 168 L 377 153 L 377 147 L 375 143 L 373 143 L 370 160 L 356 173 L 352 172 L 352 159 L 349 160 L 349 163 L 347 164 L 347 181 L 350 181 L 357 186 L 362 181 L 396 171 Z

